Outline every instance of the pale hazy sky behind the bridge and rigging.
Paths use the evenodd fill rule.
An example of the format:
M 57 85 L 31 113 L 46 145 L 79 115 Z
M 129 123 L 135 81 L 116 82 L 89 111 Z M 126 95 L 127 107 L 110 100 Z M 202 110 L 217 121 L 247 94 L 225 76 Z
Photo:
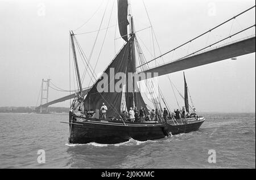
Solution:
M 115 35 L 116 3 L 115 0 L 0 0 L 0 106 L 35 106 L 42 78 L 50 78 L 52 83 L 58 87 L 69 89 L 69 30 L 81 27 L 98 9 L 89 22 L 77 29 L 75 33 L 96 31 L 108 4 L 101 28 L 107 27 L 112 6 L 113 14 L 96 67 L 97 74 L 103 71 L 114 58 L 115 49 L 118 51 L 123 45 L 123 41 L 118 38 L 120 36 L 118 31 Z M 144 0 L 144 3 L 162 53 L 255 5 L 253 0 Z M 135 29 L 139 31 L 149 27 L 150 23 L 142 0 L 131 0 L 131 7 Z M 255 8 L 217 31 L 184 46 L 180 52 L 167 55 L 164 61 L 170 62 L 184 54 L 192 53 L 204 45 L 209 45 L 210 42 L 220 40 L 253 24 L 255 24 Z M 96 65 L 105 32 L 106 30 L 101 31 L 96 41 L 92 53 L 93 67 Z M 255 34 L 255 28 L 226 42 L 253 34 Z M 96 35 L 97 32 L 77 35 L 77 40 L 81 43 L 87 57 L 92 50 Z M 154 54 L 152 53 L 151 29 L 138 32 L 137 37 L 149 61 L 152 58 L 151 54 Z M 118 38 L 115 46 L 114 38 Z M 159 55 L 155 40 L 154 43 L 156 55 Z M 163 62 L 159 59 L 157 63 Z M 79 64 L 82 74 L 84 65 L 81 62 Z M 255 53 L 238 57 L 236 61 L 227 59 L 191 68 L 185 70 L 185 75 L 192 100 L 198 110 L 202 112 L 255 112 Z M 90 80 L 88 76 L 86 77 L 84 87 L 89 84 Z M 179 91 L 183 93 L 183 72 L 175 72 L 170 77 Z M 158 80 L 168 104 L 172 109 L 177 108 L 166 76 Z M 71 88 L 74 89 L 73 80 Z M 49 100 L 68 94 L 50 89 Z M 179 103 L 183 104 L 180 98 Z M 68 105 L 69 101 L 66 101 L 54 106 Z

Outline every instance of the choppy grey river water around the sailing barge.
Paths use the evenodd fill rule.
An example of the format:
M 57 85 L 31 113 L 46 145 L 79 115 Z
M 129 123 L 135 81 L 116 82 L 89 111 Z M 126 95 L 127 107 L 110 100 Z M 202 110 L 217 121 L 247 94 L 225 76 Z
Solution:
M 199 131 L 167 139 L 68 144 L 68 114 L 0 114 L 0 168 L 255 168 L 255 113 L 202 114 Z M 46 163 L 38 164 L 38 150 Z M 208 151 L 216 151 L 209 164 Z

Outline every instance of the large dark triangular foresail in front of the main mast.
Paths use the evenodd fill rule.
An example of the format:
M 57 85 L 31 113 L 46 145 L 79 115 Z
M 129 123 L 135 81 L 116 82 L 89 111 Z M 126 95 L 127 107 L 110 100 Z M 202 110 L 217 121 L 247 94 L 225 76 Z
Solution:
M 117 54 L 114 60 L 110 63 L 110 65 L 104 71 L 105 75 L 108 75 L 108 82 L 106 83 L 107 85 L 103 85 L 104 91 L 98 92 L 98 89 L 97 89 L 98 84 L 102 83 L 104 76 L 101 76 L 101 78 L 98 79 L 97 82 L 90 89 L 84 101 L 85 109 L 87 110 L 100 109 L 102 103 L 104 102 L 108 108 L 108 112 L 106 115 L 108 117 L 115 117 L 115 118 L 119 117 L 121 100 L 122 100 L 122 91 L 121 92 L 115 91 L 115 89 L 113 89 L 114 88 L 113 84 L 114 85 L 117 84 L 117 82 L 119 82 L 121 78 L 119 79 L 113 78 L 112 75 L 110 75 L 110 73 L 112 73 L 110 71 L 114 70 L 114 74 L 117 74 L 118 72 L 122 72 L 123 74 L 125 74 L 127 59 L 129 57 L 129 52 L 130 52 L 130 44 L 131 44 L 131 41 L 128 41 L 126 45 L 123 46 L 121 51 Z M 112 69 L 110 70 L 110 68 Z M 125 81 L 125 79 L 123 80 Z

